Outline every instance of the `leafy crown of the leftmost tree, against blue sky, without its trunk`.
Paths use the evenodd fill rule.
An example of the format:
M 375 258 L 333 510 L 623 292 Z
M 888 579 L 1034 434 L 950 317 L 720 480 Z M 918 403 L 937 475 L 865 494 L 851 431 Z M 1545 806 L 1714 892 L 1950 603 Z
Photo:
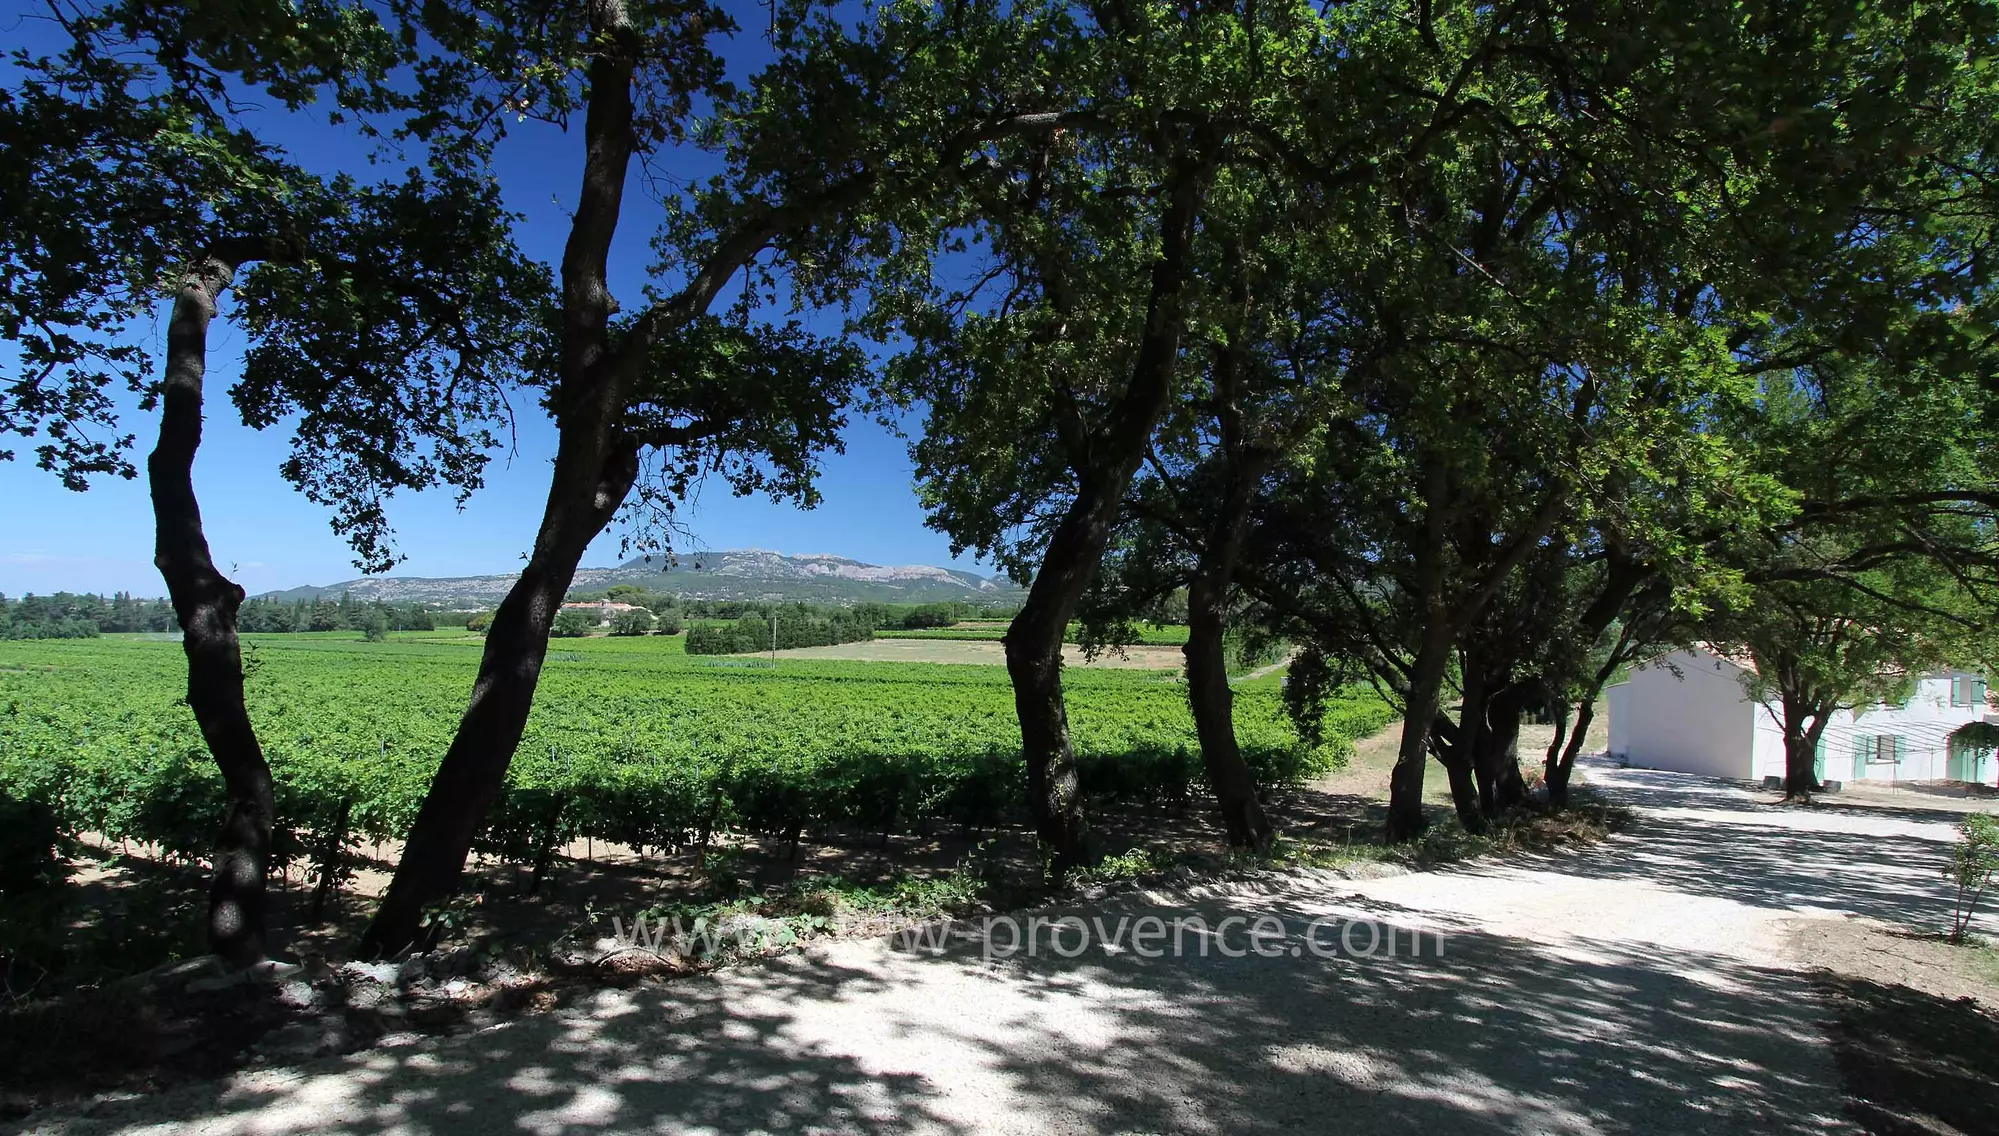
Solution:
M 76 490 L 136 476 L 110 390 L 150 410 L 158 376 L 132 330 L 190 266 L 226 266 L 248 330 L 238 412 L 292 428 L 280 472 L 334 510 L 356 564 L 388 568 L 384 500 L 478 488 L 504 390 L 536 382 L 552 344 L 552 276 L 514 248 L 498 184 L 390 144 L 420 110 L 404 74 L 388 82 L 424 74 L 416 36 L 348 4 L 106 0 L 60 28 L 54 56 L 10 52 L 0 90 L 0 338 L 18 348 L 0 432 L 40 436 L 38 464 Z M 370 160 L 408 158 L 402 180 L 306 172 L 254 130 L 266 98 L 368 114 Z

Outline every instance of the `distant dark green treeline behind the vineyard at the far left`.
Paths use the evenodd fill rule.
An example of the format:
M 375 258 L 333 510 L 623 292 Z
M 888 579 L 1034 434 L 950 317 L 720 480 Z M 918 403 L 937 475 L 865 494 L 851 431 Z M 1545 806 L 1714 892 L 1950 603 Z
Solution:
M 432 612 L 422 604 L 384 604 L 380 600 L 360 602 L 354 596 L 340 600 L 244 600 L 236 610 L 236 626 L 244 632 L 428 632 L 440 622 L 464 622 L 466 616 Z M 26 594 L 18 600 L 0 596 L 0 638 L 92 638 L 100 634 L 128 632 L 178 632 L 174 604 L 168 600 L 140 600 L 130 592 L 116 592 L 112 598 L 90 592 L 54 592 L 48 596 Z

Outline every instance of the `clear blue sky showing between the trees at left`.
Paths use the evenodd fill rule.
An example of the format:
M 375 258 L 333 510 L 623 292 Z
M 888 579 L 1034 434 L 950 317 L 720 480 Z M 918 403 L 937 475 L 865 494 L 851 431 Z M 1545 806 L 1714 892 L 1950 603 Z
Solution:
M 740 4 L 744 32 L 726 46 L 734 78 L 748 74 L 764 54 L 758 34 L 764 12 Z M 48 26 L 24 20 L 30 8 L 20 0 L 0 6 L 6 40 L 54 46 Z M 526 250 L 554 264 L 568 232 L 568 210 L 576 200 L 582 162 L 582 124 L 570 132 L 518 126 L 500 152 L 500 178 L 510 208 L 524 214 L 520 240 Z M 352 170 L 368 176 L 366 150 L 314 114 L 270 114 L 260 126 L 308 166 L 322 172 Z M 676 176 L 694 178 L 712 166 L 708 156 L 680 154 L 658 162 Z M 626 212 L 612 258 L 614 290 L 628 304 L 640 300 L 646 240 L 660 216 L 640 186 L 634 164 Z M 226 390 L 236 380 L 244 350 L 242 332 L 224 318 L 210 332 L 208 424 L 196 462 L 196 492 L 214 556 L 252 594 L 298 584 L 330 584 L 358 572 L 352 554 L 332 534 L 328 514 L 296 494 L 280 476 L 286 432 L 254 432 L 236 420 Z M 158 348 L 166 304 L 154 326 L 140 328 L 148 346 Z M 818 320 L 814 320 L 818 322 Z M 826 326 L 826 324 L 822 324 Z M 158 350 L 154 352 L 158 358 Z M 914 426 L 914 422 L 912 422 Z M 126 416 L 124 432 L 138 434 L 134 462 L 144 464 L 156 420 Z M 64 490 L 34 468 L 32 442 L 14 448 L 28 460 L 0 462 L 0 592 L 112 592 L 160 594 L 152 568 L 152 508 L 144 480 L 106 478 L 88 492 Z M 734 498 L 722 484 L 706 486 L 682 520 L 692 532 L 690 550 L 770 548 L 778 552 L 836 552 L 876 564 L 952 564 L 980 570 L 970 558 L 952 560 L 950 542 L 924 528 L 924 510 L 912 488 L 912 468 L 904 440 L 890 430 L 854 416 L 846 454 L 828 454 L 818 510 L 772 504 L 764 498 Z M 542 500 L 548 492 L 548 462 L 554 456 L 554 428 L 538 414 L 520 420 L 518 446 L 498 454 L 488 484 L 464 510 L 450 492 L 404 494 L 390 506 L 400 550 L 408 560 L 402 576 L 460 576 L 508 572 L 534 542 Z M 590 548 L 586 566 L 612 564 L 618 530 L 608 530 Z

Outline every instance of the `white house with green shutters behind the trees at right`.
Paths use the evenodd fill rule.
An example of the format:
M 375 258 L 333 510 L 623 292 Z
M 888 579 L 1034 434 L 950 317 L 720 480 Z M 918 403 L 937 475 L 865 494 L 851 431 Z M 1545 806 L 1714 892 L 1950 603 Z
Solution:
M 1775 698 L 1749 698 L 1753 676 L 1753 662 L 1703 648 L 1633 668 L 1607 692 L 1611 756 L 1717 778 L 1783 776 L 1783 712 Z M 1987 710 L 1985 678 L 1925 674 L 1899 706 L 1835 712 L 1819 738 L 1819 780 L 1999 784 L 1991 750 L 1953 738 L 1971 722 L 1999 722 Z

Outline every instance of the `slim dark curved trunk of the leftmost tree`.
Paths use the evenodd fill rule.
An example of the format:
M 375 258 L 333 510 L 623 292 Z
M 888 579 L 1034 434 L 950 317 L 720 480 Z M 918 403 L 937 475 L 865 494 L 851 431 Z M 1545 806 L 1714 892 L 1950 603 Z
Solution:
M 194 498 L 194 452 L 202 446 L 202 378 L 208 324 L 236 266 L 208 256 L 188 270 L 166 328 L 160 444 L 146 460 L 154 514 L 154 564 L 166 580 L 188 656 L 188 708 L 222 770 L 226 812 L 208 886 L 208 950 L 246 966 L 264 958 L 266 876 L 276 812 L 270 764 L 244 708 L 236 610 L 244 590 L 216 570 Z

